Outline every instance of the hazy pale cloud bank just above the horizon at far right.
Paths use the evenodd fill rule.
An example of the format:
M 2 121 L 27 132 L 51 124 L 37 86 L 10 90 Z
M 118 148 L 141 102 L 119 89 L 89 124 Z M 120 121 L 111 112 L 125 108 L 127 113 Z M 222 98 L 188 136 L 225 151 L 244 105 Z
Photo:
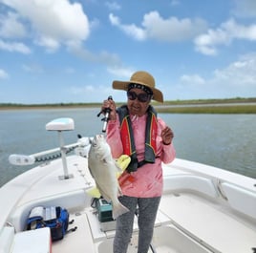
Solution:
M 172 90 L 174 95 L 183 99 L 254 97 L 256 96 L 256 53 L 241 56 L 224 69 L 215 70 L 211 77 L 184 74 Z

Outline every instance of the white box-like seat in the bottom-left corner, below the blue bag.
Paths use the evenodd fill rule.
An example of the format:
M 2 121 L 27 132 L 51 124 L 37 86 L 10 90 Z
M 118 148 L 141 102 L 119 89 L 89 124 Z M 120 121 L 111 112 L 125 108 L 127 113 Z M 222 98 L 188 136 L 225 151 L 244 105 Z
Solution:
M 14 233 L 5 226 L 0 235 L 0 253 L 51 253 L 52 238 L 49 227 Z

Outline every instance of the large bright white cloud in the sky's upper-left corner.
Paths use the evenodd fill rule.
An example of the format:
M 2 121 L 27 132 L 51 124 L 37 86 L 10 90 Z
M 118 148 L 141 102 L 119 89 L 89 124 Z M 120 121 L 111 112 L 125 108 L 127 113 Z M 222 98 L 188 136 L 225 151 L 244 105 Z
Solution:
M 24 22 L 30 22 L 35 43 L 50 51 L 61 44 L 68 46 L 85 40 L 90 33 L 87 16 L 81 4 L 68 0 L 3 0 L 4 4 L 17 11 Z M 17 18 L 16 18 L 16 22 Z M 22 23 L 20 23 L 22 26 Z

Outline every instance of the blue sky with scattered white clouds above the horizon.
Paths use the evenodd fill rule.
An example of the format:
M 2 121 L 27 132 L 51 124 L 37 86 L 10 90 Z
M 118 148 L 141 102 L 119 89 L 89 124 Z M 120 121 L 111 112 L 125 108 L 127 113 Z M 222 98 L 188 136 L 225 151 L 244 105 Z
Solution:
M 255 0 L 0 0 L 0 103 L 100 102 L 154 75 L 165 100 L 256 96 Z

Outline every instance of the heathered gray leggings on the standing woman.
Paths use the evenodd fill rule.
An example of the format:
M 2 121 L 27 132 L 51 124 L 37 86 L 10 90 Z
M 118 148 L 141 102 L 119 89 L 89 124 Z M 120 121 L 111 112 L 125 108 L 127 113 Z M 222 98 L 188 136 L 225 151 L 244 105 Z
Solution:
M 134 216 L 137 207 L 139 207 L 138 253 L 147 253 L 153 237 L 160 197 L 138 199 L 122 196 L 119 197 L 119 200 L 130 212 L 117 217 L 116 236 L 113 245 L 114 253 L 126 253 L 133 233 Z

